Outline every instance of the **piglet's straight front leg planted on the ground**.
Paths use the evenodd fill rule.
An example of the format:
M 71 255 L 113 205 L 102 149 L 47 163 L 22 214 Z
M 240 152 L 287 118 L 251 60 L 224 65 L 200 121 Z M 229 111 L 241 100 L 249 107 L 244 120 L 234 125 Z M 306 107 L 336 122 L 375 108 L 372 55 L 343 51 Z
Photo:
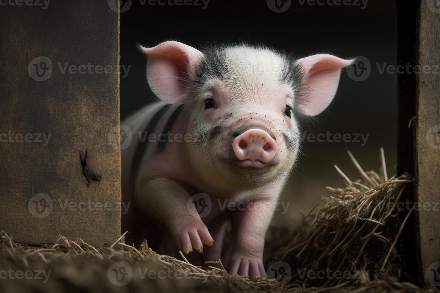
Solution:
M 264 236 L 279 197 L 280 188 L 270 188 L 232 215 L 235 243 L 228 257 L 230 274 L 266 276 L 263 265 Z M 272 193 L 272 194 L 271 194 Z

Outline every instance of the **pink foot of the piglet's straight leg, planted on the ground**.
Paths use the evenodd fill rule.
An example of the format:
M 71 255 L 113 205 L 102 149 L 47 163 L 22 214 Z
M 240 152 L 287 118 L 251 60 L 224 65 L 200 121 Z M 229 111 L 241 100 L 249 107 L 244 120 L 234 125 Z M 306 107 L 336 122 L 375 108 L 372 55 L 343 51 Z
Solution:
M 231 255 L 227 272 L 241 276 L 248 275 L 251 280 L 266 276 L 263 260 L 252 257 L 235 257 Z

